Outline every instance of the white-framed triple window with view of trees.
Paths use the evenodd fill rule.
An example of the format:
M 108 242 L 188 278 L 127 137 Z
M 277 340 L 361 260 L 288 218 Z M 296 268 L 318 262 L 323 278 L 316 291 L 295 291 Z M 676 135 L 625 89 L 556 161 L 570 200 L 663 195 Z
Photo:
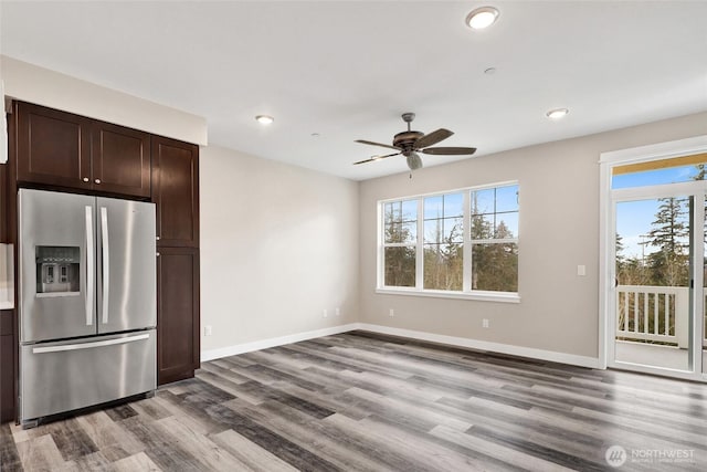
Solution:
M 383 201 L 379 292 L 513 298 L 518 185 Z

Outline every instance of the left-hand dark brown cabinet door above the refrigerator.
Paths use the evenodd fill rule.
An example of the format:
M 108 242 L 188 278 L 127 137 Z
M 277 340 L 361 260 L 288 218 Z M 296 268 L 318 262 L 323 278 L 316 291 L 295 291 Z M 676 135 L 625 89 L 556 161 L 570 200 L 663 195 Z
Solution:
M 18 103 L 18 180 L 89 189 L 91 122 Z

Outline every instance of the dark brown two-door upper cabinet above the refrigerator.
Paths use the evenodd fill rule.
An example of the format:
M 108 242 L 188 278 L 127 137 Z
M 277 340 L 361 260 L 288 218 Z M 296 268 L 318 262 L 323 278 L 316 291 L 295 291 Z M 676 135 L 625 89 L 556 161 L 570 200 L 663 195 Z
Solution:
M 150 196 L 150 135 L 17 103 L 18 181 Z

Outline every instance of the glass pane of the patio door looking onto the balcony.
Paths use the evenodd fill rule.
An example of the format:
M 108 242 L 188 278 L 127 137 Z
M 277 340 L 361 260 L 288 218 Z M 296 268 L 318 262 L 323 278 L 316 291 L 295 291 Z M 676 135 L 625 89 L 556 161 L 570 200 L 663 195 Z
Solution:
M 630 191 L 616 195 L 611 360 L 614 366 L 688 373 L 698 305 L 696 263 L 704 273 L 704 256 L 697 254 L 704 244 L 695 244 L 697 233 L 703 237 L 704 212 L 696 225 L 695 202 L 701 203 L 704 197 L 697 200 L 695 195 L 662 187 L 647 198 L 650 189 L 642 189 L 642 197 Z M 704 303 L 699 305 L 703 313 Z

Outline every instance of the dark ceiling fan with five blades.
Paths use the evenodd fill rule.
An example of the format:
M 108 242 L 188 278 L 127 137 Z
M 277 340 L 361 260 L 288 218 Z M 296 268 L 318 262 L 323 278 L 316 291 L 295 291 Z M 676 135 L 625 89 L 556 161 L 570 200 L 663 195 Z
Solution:
M 414 113 L 402 114 L 402 120 L 408 124 L 408 130 L 398 133 L 393 137 L 392 146 L 382 143 L 357 139 L 356 143 L 387 147 L 390 149 L 395 149 L 397 153 L 387 154 L 384 156 L 373 156 L 371 158 L 354 162 L 354 165 L 372 162 L 374 160 L 384 159 L 387 157 L 403 155 L 408 160 L 408 167 L 410 168 L 410 170 L 415 170 L 422 167 L 422 158 L 420 157 L 420 155 L 418 155 L 418 153 L 446 156 L 471 156 L 476 151 L 475 147 L 429 147 L 449 138 L 454 133 L 444 128 L 428 133 L 426 135 L 421 132 L 413 132 L 410 129 L 410 123 L 412 123 L 413 119 L 415 119 Z

